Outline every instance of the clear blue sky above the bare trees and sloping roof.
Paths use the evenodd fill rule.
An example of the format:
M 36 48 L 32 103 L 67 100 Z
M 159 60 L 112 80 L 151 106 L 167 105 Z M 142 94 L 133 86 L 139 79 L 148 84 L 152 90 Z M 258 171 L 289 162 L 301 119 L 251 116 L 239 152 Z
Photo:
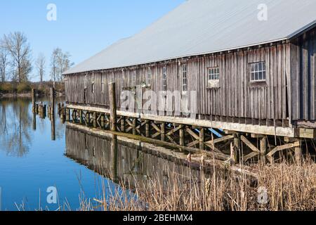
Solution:
M 143 30 L 184 1 L 0 0 L 0 36 L 24 32 L 33 60 L 41 52 L 46 56 L 45 78 L 49 79 L 49 60 L 55 47 L 68 51 L 71 60 L 80 63 L 118 39 Z M 46 19 L 48 4 L 57 6 L 56 21 Z

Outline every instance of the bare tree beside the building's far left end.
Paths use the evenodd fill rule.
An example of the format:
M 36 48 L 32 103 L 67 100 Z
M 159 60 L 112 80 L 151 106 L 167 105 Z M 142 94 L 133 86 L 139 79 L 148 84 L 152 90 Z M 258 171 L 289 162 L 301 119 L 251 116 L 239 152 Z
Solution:
M 51 55 L 51 79 L 55 82 L 62 82 L 62 73 L 68 70 L 73 63 L 70 62 L 70 53 L 63 53 L 56 48 Z

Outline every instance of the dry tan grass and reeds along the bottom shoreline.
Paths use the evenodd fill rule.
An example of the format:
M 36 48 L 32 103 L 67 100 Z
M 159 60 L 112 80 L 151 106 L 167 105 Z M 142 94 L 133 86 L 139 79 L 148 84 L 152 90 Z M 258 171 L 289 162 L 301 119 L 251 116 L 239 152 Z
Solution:
M 170 172 L 166 181 L 147 179 L 133 188 L 121 184 L 125 187 L 123 190 L 115 191 L 111 198 L 104 195 L 100 200 L 95 199 L 98 205 L 94 207 L 90 201 L 81 201 L 81 210 L 315 210 L 315 163 L 288 165 L 284 162 L 258 166 L 257 169 L 258 179 L 218 170 L 213 174 L 202 172 L 200 177 L 184 177 Z M 267 202 L 259 204 L 258 197 L 265 196 L 265 189 Z

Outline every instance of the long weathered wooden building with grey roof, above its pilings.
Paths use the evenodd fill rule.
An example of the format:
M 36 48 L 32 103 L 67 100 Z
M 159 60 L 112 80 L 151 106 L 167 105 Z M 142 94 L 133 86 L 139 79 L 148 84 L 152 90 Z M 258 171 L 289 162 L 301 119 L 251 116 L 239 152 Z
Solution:
M 180 91 L 185 99 L 196 91 L 195 118 L 178 115 L 175 105 L 172 112 L 139 111 L 135 105 L 117 113 L 315 139 L 315 25 L 312 0 L 185 1 L 139 34 L 65 72 L 67 105 L 109 113 L 110 82 L 116 84 L 119 109 L 121 92 L 137 86 L 142 93 Z

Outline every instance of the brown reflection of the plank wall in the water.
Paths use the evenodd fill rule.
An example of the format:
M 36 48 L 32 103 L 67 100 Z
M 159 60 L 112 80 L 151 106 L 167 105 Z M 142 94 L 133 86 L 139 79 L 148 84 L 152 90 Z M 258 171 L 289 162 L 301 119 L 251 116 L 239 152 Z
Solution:
M 165 149 L 165 148 L 164 148 Z M 166 149 L 165 149 L 166 150 Z M 199 167 L 159 151 L 149 143 L 117 137 L 113 134 L 99 136 L 92 132 L 66 128 L 66 156 L 89 169 L 126 185 L 136 186 L 147 179 L 159 179 L 161 184 L 169 182 L 169 174 L 180 174 L 184 179 L 201 178 Z M 209 176 L 203 173 L 204 176 Z

